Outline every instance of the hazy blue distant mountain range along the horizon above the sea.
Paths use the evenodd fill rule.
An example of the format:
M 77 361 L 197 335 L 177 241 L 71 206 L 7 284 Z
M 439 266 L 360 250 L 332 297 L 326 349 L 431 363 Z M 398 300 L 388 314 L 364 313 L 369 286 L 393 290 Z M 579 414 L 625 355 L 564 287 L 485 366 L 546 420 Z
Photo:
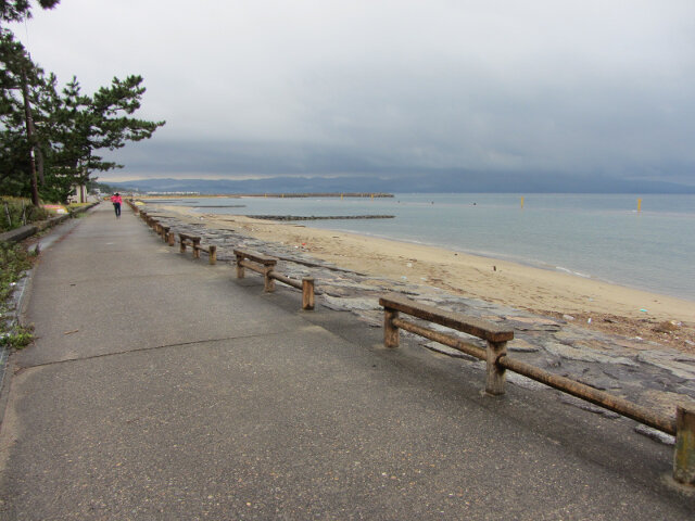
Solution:
M 213 193 L 695 193 L 695 187 L 652 180 L 603 176 L 569 177 L 549 174 L 490 174 L 451 171 L 416 176 L 299 177 L 266 179 L 141 179 L 108 182 L 122 191 Z

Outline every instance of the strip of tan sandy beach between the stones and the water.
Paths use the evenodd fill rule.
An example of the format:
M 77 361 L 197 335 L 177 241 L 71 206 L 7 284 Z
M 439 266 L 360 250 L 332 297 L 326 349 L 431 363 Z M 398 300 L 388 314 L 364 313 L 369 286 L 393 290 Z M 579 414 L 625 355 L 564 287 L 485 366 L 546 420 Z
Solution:
M 200 214 L 181 206 L 160 207 L 211 228 L 235 229 L 302 249 L 316 258 L 366 275 L 428 284 L 695 353 L 695 302 L 421 244 L 304 224 Z

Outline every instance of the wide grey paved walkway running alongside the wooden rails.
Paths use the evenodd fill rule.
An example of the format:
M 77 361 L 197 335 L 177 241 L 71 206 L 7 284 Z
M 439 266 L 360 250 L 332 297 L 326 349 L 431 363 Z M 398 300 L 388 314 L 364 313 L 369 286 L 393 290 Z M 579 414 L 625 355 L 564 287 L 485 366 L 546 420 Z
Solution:
M 346 313 L 301 312 L 110 205 L 37 266 L 0 519 L 693 519 L 672 448 Z

